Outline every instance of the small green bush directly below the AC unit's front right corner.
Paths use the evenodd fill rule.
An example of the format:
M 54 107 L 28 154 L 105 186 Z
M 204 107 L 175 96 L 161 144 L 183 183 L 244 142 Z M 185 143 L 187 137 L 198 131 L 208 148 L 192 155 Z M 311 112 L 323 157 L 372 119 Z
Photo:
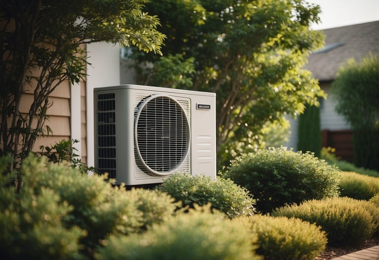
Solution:
M 210 202 L 212 208 L 226 213 L 229 218 L 252 215 L 255 210 L 252 206 L 255 200 L 249 191 L 220 177 L 214 181 L 204 175 L 175 174 L 164 180 L 158 189 L 182 201 L 183 206 L 193 208 L 194 204 L 202 206 Z

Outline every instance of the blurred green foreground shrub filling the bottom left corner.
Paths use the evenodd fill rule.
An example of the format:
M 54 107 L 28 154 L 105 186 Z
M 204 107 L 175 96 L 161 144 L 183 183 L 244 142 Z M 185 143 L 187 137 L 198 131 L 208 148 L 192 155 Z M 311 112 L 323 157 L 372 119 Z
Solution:
M 80 259 L 79 241 L 86 235 L 78 227 L 67 227 L 62 218 L 73 210 L 60 202 L 54 190 L 44 187 L 38 194 L 25 183 L 14 190 L 15 174 L 5 174 L 8 160 L 0 158 L 0 255 L 2 259 Z M 25 176 L 25 179 L 28 179 Z

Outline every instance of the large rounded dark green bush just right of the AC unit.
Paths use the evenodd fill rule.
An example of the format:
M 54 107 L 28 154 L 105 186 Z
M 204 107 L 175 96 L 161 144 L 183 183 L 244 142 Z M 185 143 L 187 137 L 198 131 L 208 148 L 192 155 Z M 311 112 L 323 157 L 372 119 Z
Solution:
M 312 153 L 283 147 L 244 154 L 222 175 L 249 190 L 262 213 L 285 204 L 338 196 L 337 169 Z

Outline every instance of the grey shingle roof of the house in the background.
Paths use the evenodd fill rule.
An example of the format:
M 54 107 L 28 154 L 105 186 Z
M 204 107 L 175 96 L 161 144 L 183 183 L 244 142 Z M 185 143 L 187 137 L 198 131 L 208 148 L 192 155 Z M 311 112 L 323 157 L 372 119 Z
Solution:
M 358 62 L 369 52 L 373 55 L 379 53 L 379 21 L 323 31 L 326 36 L 324 52 L 310 54 L 305 65 L 305 69 L 319 81 L 334 80 L 339 67 L 350 58 Z

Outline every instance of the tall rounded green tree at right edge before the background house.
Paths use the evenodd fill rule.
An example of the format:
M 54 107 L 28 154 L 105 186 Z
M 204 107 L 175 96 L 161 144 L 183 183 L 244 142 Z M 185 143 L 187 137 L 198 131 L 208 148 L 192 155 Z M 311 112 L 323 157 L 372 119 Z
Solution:
M 379 67 L 370 54 L 346 62 L 332 83 L 335 110 L 352 127 L 354 164 L 379 171 Z

